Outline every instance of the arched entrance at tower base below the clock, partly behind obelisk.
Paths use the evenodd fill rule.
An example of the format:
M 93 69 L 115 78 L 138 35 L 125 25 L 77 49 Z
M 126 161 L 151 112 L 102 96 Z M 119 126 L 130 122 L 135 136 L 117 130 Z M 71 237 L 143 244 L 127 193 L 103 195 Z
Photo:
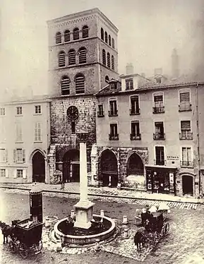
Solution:
M 64 182 L 80 181 L 79 150 L 68 150 L 63 157 Z

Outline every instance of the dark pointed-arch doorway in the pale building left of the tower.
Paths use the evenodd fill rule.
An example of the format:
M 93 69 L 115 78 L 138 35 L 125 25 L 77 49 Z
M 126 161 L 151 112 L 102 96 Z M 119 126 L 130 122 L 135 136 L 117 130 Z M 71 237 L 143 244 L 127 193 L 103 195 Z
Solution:
M 44 156 L 40 151 L 37 151 L 32 156 L 32 181 L 44 182 L 44 180 L 45 180 Z

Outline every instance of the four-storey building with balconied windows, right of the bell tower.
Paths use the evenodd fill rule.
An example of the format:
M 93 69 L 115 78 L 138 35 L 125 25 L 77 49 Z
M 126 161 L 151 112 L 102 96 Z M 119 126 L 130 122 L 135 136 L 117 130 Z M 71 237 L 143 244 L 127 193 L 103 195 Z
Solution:
M 204 83 L 137 74 L 97 93 L 95 184 L 203 193 Z

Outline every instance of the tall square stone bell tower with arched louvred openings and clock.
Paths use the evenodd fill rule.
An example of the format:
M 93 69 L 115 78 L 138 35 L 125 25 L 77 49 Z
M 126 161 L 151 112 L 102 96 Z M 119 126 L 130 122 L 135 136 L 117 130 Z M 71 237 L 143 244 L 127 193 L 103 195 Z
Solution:
M 96 143 L 95 93 L 117 78 L 117 28 L 99 9 L 48 21 L 52 183 L 79 181 L 79 138 L 87 134 L 88 172 Z

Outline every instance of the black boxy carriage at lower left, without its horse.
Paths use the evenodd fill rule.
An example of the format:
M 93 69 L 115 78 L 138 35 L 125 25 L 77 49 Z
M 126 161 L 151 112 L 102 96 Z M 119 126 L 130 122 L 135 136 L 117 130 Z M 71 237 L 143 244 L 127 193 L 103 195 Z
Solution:
M 13 253 L 27 258 L 30 252 L 40 253 L 42 250 L 42 223 L 30 219 L 17 222 L 13 227 L 9 246 Z

